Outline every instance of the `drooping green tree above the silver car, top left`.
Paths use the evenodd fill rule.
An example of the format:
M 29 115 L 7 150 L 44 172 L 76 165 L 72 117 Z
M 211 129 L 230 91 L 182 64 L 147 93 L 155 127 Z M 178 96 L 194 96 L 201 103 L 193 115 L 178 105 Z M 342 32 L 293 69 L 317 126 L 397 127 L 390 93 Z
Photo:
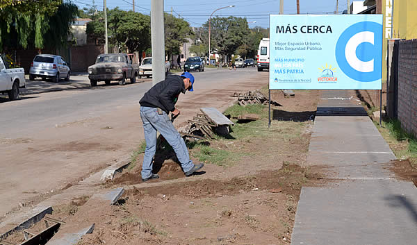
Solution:
M 66 44 L 77 7 L 62 0 L 7 0 L 0 5 L 0 51 Z

